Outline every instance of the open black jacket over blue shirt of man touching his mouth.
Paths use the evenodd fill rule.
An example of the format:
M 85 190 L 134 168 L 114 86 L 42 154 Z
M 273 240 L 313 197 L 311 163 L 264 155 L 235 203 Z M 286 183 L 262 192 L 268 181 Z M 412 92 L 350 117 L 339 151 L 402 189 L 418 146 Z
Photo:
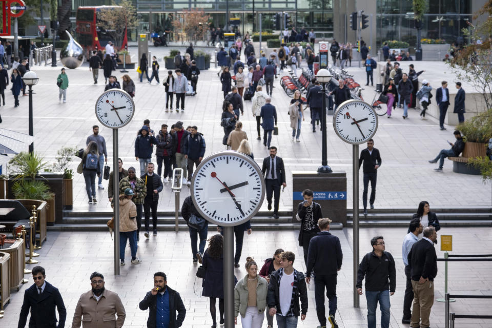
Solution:
M 185 304 L 179 296 L 179 293 L 166 286 L 169 293 L 169 328 L 178 328 L 183 324 L 186 316 Z M 144 299 L 140 301 L 138 307 L 140 310 L 149 309 L 149 318 L 147 319 L 147 328 L 155 328 L 155 315 L 157 312 L 157 295 L 152 295 L 151 292 L 147 292 Z M 177 316 L 176 316 L 177 312 Z

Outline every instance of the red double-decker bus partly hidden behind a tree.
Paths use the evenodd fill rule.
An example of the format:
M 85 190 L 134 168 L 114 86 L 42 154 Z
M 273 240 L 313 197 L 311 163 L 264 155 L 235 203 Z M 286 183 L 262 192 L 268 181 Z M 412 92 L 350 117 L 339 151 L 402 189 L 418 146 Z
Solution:
M 108 31 L 98 26 L 98 12 L 102 9 L 121 8 L 120 6 L 81 6 L 77 8 L 75 39 L 84 47 L 85 50 L 102 49 L 106 47 L 109 41 L 113 41 Z M 116 45 L 115 48 L 122 49 L 127 45 L 127 30 L 122 45 Z

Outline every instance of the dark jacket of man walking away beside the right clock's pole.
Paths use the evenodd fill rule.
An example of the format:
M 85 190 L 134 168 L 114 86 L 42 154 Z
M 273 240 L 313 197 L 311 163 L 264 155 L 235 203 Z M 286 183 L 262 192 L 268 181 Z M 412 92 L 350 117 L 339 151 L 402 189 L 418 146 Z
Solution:
M 309 277 L 312 270 L 315 275 L 337 274 L 342 267 L 342 259 L 340 239 L 327 231 L 318 232 L 309 242 L 307 275 Z

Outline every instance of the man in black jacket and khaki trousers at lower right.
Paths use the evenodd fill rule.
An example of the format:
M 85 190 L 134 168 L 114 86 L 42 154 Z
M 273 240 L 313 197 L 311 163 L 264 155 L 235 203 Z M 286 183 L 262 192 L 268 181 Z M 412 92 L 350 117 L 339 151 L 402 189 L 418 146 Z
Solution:
M 437 240 L 436 228 L 424 229 L 422 239 L 412 245 L 408 253 L 408 265 L 414 290 L 411 327 L 428 327 L 430 309 L 434 303 L 434 278 L 437 275 L 437 255 L 434 242 Z

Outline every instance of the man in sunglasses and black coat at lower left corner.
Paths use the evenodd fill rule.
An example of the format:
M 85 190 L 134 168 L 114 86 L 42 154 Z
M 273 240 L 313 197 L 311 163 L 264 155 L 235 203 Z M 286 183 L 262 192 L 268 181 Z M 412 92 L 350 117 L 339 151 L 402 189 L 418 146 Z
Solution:
M 34 284 L 24 293 L 24 303 L 20 309 L 19 323 L 17 328 L 24 328 L 27 321 L 29 308 L 31 308 L 31 318 L 29 328 L 63 328 L 67 310 L 60 292 L 49 282 L 45 281 L 45 269 L 34 267 L 32 269 Z M 55 306 L 58 309 L 59 321 L 56 324 Z

